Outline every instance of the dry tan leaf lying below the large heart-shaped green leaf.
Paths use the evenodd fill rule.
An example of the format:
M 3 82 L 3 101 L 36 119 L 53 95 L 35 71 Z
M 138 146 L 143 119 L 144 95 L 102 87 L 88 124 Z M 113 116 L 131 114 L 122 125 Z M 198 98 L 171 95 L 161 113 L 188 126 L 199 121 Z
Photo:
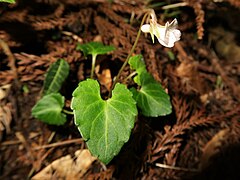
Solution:
M 32 179 L 42 180 L 52 179 L 53 177 L 66 180 L 80 179 L 95 160 L 96 158 L 90 154 L 89 150 L 78 150 L 75 152 L 75 157 L 72 158 L 67 155 L 53 161 Z

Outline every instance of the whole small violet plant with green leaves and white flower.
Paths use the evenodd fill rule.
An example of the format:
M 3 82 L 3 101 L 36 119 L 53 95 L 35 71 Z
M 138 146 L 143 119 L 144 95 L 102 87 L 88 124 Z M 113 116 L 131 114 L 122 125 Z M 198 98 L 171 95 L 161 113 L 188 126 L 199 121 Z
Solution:
M 147 24 L 143 23 L 147 21 Z M 94 77 L 97 55 L 113 51 L 113 46 L 104 46 L 102 43 L 90 42 L 79 44 L 85 56 L 92 56 L 90 78 L 81 81 L 73 92 L 71 109 L 74 121 L 90 152 L 103 163 L 108 164 L 129 140 L 134 127 L 136 116 L 141 113 L 147 117 L 157 117 L 170 114 L 172 106 L 170 98 L 161 84 L 147 72 L 142 55 L 132 56 L 141 31 L 154 36 L 159 43 L 166 47 L 173 47 L 180 39 L 180 31 L 176 29 L 177 20 L 161 26 L 153 10 L 147 10 L 143 17 L 141 28 L 138 31 L 135 43 L 109 91 L 108 98 L 102 99 L 100 85 Z M 130 89 L 119 82 L 120 74 L 129 64 L 134 71 L 128 78 L 133 77 L 135 87 Z M 46 76 L 43 97 L 32 109 L 32 115 L 43 122 L 62 125 L 66 122 L 63 110 L 64 97 L 59 94 L 63 81 L 66 79 L 69 65 L 64 60 L 54 63 Z M 71 114 L 71 112 L 70 112 Z

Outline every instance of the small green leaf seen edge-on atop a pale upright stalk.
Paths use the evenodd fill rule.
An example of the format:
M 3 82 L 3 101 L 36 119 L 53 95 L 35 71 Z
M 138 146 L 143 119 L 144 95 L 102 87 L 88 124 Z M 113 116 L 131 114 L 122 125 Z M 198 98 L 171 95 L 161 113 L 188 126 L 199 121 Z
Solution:
M 115 50 L 115 47 L 113 46 L 105 46 L 104 44 L 100 42 L 89 42 L 86 44 L 78 44 L 77 50 L 81 50 L 84 54 L 84 56 L 87 56 L 89 54 L 93 56 L 97 56 L 99 54 L 106 54 L 110 51 Z

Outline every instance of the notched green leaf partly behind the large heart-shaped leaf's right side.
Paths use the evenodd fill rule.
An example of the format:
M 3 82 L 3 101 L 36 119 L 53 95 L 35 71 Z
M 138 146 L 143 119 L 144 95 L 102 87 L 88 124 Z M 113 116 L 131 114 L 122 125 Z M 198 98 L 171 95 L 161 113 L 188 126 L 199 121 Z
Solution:
M 142 114 L 150 117 L 170 114 L 172 112 L 170 98 L 161 84 L 147 72 L 142 56 L 133 56 L 129 64 L 137 72 L 134 81 L 141 87 L 139 90 L 135 88 L 130 90 Z

